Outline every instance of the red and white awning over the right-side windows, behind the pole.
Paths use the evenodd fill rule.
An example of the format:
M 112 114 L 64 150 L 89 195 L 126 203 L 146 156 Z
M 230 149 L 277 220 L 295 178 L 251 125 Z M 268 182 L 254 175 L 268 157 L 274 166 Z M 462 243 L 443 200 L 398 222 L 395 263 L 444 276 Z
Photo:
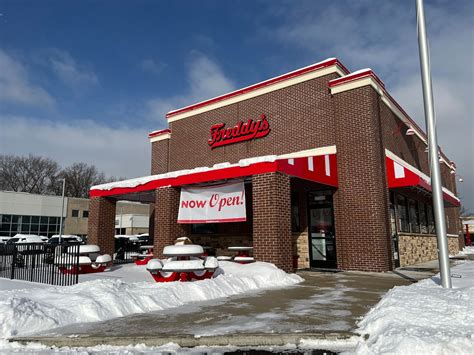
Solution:
M 431 179 L 406 161 L 385 150 L 387 183 L 390 189 L 400 187 L 419 187 L 431 192 Z M 460 200 L 454 193 L 443 187 L 443 198 L 450 206 L 460 206 Z

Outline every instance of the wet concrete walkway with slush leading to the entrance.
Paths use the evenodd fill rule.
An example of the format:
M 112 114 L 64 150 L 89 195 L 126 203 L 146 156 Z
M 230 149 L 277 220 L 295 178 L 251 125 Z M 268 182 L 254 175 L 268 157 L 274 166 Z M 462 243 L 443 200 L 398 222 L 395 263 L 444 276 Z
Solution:
M 105 322 L 75 324 L 40 334 L 71 339 L 136 337 L 140 341 L 179 335 L 206 337 L 257 333 L 335 333 L 347 338 L 356 321 L 383 294 L 411 281 L 395 274 L 302 272 L 305 282 L 213 302 L 196 303 Z M 38 339 L 39 340 L 39 339 Z M 45 339 L 43 338 L 42 341 Z

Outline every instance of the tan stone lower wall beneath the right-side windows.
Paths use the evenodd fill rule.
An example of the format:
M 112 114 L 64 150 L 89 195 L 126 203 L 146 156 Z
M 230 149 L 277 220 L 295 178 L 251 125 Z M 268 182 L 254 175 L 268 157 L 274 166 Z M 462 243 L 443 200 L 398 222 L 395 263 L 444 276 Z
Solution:
M 437 239 L 435 235 L 402 234 L 399 236 L 400 266 L 409 266 L 438 258 Z M 448 238 L 450 255 L 459 253 L 458 237 Z

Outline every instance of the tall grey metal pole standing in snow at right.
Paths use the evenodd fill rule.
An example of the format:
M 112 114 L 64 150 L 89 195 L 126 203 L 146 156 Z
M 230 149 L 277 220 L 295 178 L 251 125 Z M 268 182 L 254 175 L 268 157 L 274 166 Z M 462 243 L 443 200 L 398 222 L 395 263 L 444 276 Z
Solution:
M 436 117 L 434 112 L 433 88 L 431 86 L 430 58 L 426 36 L 423 0 L 416 0 L 418 46 L 420 50 L 421 81 L 423 86 L 423 102 L 425 109 L 426 130 L 428 134 L 428 150 L 431 171 L 431 188 L 433 191 L 433 209 L 438 240 L 438 260 L 441 274 L 441 285 L 451 288 L 449 271 L 448 240 L 446 233 L 446 217 L 444 213 L 441 171 L 438 157 L 438 139 L 436 136 Z

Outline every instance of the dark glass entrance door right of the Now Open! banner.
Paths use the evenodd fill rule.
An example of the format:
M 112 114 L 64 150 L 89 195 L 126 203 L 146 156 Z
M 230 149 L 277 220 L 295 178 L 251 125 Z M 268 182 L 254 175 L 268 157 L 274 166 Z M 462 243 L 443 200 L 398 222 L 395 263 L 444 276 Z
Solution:
M 308 194 L 309 258 L 314 268 L 337 267 L 332 193 L 326 190 Z

